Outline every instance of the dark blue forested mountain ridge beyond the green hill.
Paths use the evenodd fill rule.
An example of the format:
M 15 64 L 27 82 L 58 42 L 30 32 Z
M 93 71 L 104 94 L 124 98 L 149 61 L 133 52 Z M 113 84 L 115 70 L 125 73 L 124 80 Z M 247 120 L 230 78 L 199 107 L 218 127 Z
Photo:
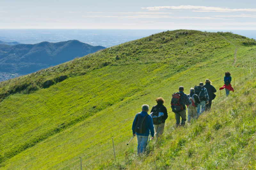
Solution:
M 77 40 L 59 43 L 0 44 L 0 72 L 28 74 L 105 48 Z

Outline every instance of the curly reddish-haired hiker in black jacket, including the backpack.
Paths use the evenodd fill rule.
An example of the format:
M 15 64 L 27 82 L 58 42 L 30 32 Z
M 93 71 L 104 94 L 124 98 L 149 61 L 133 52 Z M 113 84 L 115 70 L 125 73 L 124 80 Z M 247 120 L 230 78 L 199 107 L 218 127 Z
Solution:
M 168 113 L 164 104 L 164 99 L 162 97 L 156 98 L 156 105 L 152 107 L 150 111 L 150 116 L 153 118 L 153 124 L 156 130 L 156 137 L 162 135 L 164 132 L 164 123 L 168 118 Z

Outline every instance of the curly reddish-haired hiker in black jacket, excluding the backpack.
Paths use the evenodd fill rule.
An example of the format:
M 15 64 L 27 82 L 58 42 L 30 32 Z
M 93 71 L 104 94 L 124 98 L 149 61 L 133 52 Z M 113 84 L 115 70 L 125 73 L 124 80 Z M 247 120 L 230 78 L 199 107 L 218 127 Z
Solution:
M 165 120 L 168 118 L 168 113 L 166 107 L 163 105 L 164 104 L 164 99 L 162 97 L 156 98 L 156 105 L 152 107 L 150 111 L 150 116 L 153 117 L 152 112 L 154 110 L 159 110 L 158 117 L 162 116 L 162 123 L 159 125 L 154 125 L 155 130 L 156 130 L 156 137 L 158 135 L 162 135 L 164 132 L 164 123 Z

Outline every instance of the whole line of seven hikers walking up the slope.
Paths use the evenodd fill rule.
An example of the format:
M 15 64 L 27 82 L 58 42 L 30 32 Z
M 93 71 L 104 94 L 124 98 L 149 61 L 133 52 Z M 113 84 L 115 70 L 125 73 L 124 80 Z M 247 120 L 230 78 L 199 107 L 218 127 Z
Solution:
M 224 86 L 221 89 L 226 90 L 226 97 L 229 91 L 234 89 L 231 87 L 231 74 L 225 73 Z M 184 87 L 179 87 L 179 92 L 172 94 L 171 108 L 175 113 L 176 127 L 184 126 L 186 122 L 186 110 L 188 109 L 188 122 L 192 118 L 197 119 L 204 111 L 209 111 L 212 106 L 212 100 L 216 97 L 214 94 L 216 89 L 212 86 L 209 79 L 199 83 L 199 86 L 190 88 L 190 94 L 185 94 Z M 149 106 L 142 105 L 142 111 L 137 113 L 132 123 L 132 134 L 137 135 L 138 139 L 138 155 L 145 152 L 148 145 L 148 137 L 151 139 L 160 136 L 164 132 L 165 120 L 168 118 L 168 113 L 162 97 L 156 98 L 156 105 L 152 107 L 148 114 Z M 186 109 L 187 105 L 187 109 Z M 181 118 L 181 122 L 180 122 Z M 155 128 L 155 129 L 154 129 Z M 149 139 L 149 141 L 151 140 Z

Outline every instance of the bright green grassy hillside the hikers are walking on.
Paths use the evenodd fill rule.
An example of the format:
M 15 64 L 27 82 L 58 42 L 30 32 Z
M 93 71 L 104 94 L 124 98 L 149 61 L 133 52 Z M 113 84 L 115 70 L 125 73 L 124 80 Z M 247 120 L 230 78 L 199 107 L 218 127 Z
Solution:
M 232 153 L 237 155 L 229 162 L 247 160 L 247 145 L 241 147 L 241 134 L 234 126 L 239 129 L 243 122 L 248 123 L 255 106 L 255 84 L 249 85 L 255 79 L 248 76 L 251 71 L 255 73 L 255 49 L 255 40 L 231 33 L 167 31 L 1 82 L 0 169 L 77 169 L 79 157 L 83 157 L 83 167 L 91 169 L 213 168 L 215 164 L 228 168 L 229 164 L 221 162 L 229 160 L 231 153 L 222 142 L 228 142 L 230 136 L 236 147 Z M 236 81 L 236 92 L 225 98 L 218 91 L 211 112 L 185 128 L 174 128 L 172 93 L 180 85 L 188 93 L 190 87 L 206 78 L 217 89 L 223 85 L 227 70 Z M 242 109 L 238 106 L 245 104 L 242 99 L 247 98 L 246 93 L 251 97 L 251 107 Z M 152 107 L 159 96 L 166 100 L 169 112 L 164 136 L 150 144 L 149 155 L 138 159 L 136 140 L 126 146 L 132 137 L 132 121 L 142 104 Z M 239 112 L 233 110 L 232 102 L 238 103 Z M 234 119 L 229 116 L 232 112 Z M 248 118 L 243 117 L 247 112 Z M 227 137 L 224 131 L 229 133 Z M 242 140 L 253 139 L 253 133 L 243 134 Z M 219 151 L 222 157 L 218 159 Z M 144 161 L 147 164 L 141 163 Z M 251 162 L 253 165 L 255 159 Z M 244 166 L 250 167 L 246 161 L 233 167 Z

